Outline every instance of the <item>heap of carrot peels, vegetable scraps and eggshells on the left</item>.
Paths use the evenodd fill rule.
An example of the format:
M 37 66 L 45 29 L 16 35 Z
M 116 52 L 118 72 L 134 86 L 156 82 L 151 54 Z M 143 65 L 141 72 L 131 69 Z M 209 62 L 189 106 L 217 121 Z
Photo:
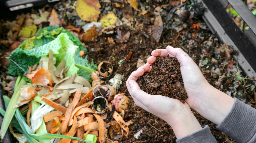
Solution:
M 61 45 L 61 40 L 64 40 L 63 42 L 66 43 Z M 52 44 L 54 44 L 57 49 L 54 49 Z M 65 46 L 67 46 L 66 49 Z M 91 83 L 83 76 L 77 75 L 76 72 L 71 74 L 68 73 L 69 70 L 64 70 L 69 69 L 70 66 L 74 67 L 75 65 L 75 60 L 72 59 L 74 56 L 70 57 L 64 55 L 64 58 L 63 56 L 60 58 L 61 56 L 59 55 L 67 54 L 67 52 L 62 50 L 66 51 L 70 46 L 75 47 L 75 49 L 78 47 L 69 40 L 66 33 L 60 33 L 56 39 L 42 45 L 40 48 L 35 47 L 32 50 L 17 49 L 17 51 L 19 50 L 28 58 L 32 57 L 32 55 L 38 58 L 41 56 L 38 65 L 34 64 L 29 67 L 22 78 L 19 76 L 14 87 L 16 96 L 13 96 L 11 99 L 14 100 L 15 98 L 15 102 L 9 103 L 9 107 L 17 109 L 16 112 L 19 110 L 18 107 L 23 107 L 20 109 L 21 112 L 27 109 L 26 122 L 22 122 L 22 124 L 30 127 L 30 132 L 25 134 L 24 130 L 21 128 L 21 130 L 19 130 L 20 133 L 24 134 L 24 139 L 30 142 L 31 140 L 38 140 L 38 138 L 33 138 L 33 135 L 38 133 L 44 133 L 49 137 L 52 135 L 52 141 L 56 140 L 60 143 L 88 142 L 89 140 L 93 142 L 98 140 L 100 143 L 104 143 L 106 139 L 114 142 L 115 139 L 111 140 L 108 138 L 107 128 L 109 128 L 111 124 L 104 121 L 106 118 L 112 118 L 111 122 L 117 120 L 118 123 L 125 124 L 125 127 L 121 127 L 128 135 L 128 125 L 126 125 L 122 119 L 124 111 L 121 113 L 121 111 L 119 112 L 118 110 L 121 114 L 119 115 L 119 113 L 112 109 L 111 103 L 110 105 L 108 103 L 108 101 L 114 99 L 116 89 L 110 85 L 101 85 L 104 83 L 101 79 L 106 79 L 106 77 L 112 74 L 113 66 L 110 62 L 101 62 L 101 64 L 98 65 L 98 71 L 93 71 L 93 73 L 98 73 L 96 79 L 100 80 L 100 82 L 96 83 L 93 88 Z M 34 49 L 39 51 L 35 53 L 33 52 Z M 46 54 L 46 50 L 48 50 L 48 54 Z M 17 54 L 17 51 L 13 51 L 13 53 Z M 13 55 L 13 53 L 11 55 Z M 70 51 L 70 53 L 72 52 Z M 75 55 L 74 52 L 71 55 Z M 12 58 L 14 59 L 15 56 Z M 59 61 L 59 63 L 56 61 Z M 91 76 L 94 75 L 93 73 L 88 74 Z M 26 77 L 31 83 L 24 80 Z M 92 77 L 92 79 L 95 78 Z M 117 82 L 116 80 L 118 79 L 118 83 L 113 83 Z M 109 83 L 119 86 L 122 83 L 122 79 L 122 75 L 116 74 L 112 82 Z M 21 81 L 19 82 L 18 80 Z M 122 96 L 124 96 L 124 93 Z M 121 102 L 121 100 L 119 102 Z M 115 103 L 117 105 L 123 104 L 118 103 L 118 101 Z M 25 104 L 28 105 L 24 106 Z M 113 106 L 117 105 L 113 104 Z M 10 110 L 10 108 L 7 110 Z M 122 108 L 122 110 L 125 110 L 125 108 Z M 11 112 L 14 113 L 14 111 L 15 110 Z M 109 112 L 115 112 L 113 117 L 111 117 L 111 114 L 108 114 Z M 11 119 L 13 114 L 9 115 L 9 117 L 9 119 Z M 6 119 L 4 119 L 4 123 L 10 124 Z M 22 125 L 18 124 L 17 126 L 15 126 L 15 128 L 19 129 Z M 3 127 L 1 127 L 1 131 L 3 130 L 2 128 Z M 1 132 L 3 136 L 5 132 L 6 129 Z M 32 138 L 28 138 L 27 135 L 30 135 Z M 58 135 L 62 136 L 58 137 Z M 59 140 L 58 138 L 62 139 Z M 17 139 L 20 140 L 18 137 Z

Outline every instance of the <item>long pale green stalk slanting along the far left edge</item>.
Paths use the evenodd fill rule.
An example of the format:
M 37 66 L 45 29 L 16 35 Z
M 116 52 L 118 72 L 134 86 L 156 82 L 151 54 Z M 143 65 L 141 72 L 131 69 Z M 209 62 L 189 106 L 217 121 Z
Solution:
M 17 81 L 20 79 L 20 77 L 18 77 Z M 17 82 L 16 81 L 16 82 Z M 11 101 L 9 103 L 9 106 L 7 107 L 6 109 L 6 113 L 5 113 L 5 116 L 4 116 L 4 119 L 3 119 L 3 123 L 2 123 L 2 127 L 0 129 L 0 135 L 1 135 L 1 138 L 4 138 L 5 134 L 6 134 L 6 131 L 7 129 L 9 128 L 9 125 L 11 123 L 11 119 L 13 118 L 13 115 L 15 113 L 15 110 L 17 108 L 13 108 L 12 106 L 17 103 L 18 99 L 19 99 L 19 96 L 20 96 L 20 87 L 21 86 L 24 86 L 26 85 L 27 82 L 24 80 L 24 78 L 22 78 L 20 80 L 20 82 L 18 83 L 15 83 L 15 89 L 14 89 L 14 93 L 11 97 Z

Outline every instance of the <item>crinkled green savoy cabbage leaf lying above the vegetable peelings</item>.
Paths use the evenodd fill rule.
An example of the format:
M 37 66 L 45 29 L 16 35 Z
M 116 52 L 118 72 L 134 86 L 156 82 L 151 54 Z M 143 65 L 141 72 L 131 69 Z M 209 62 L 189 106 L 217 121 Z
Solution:
M 79 51 L 87 51 L 87 49 L 69 31 L 63 27 L 53 26 L 39 29 L 36 36 L 25 40 L 11 53 L 9 57 L 11 60 L 8 68 L 9 73 L 22 76 L 28 70 L 28 66 L 33 66 L 37 63 L 41 56 L 48 55 L 49 49 L 53 50 L 54 57 L 58 60 L 57 63 L 62 59 L 66 60 L 66 66 L 70 67 L 68 75 L 77 73 L 91 81 L 89 76 L 91 70 L 84 71 L 75 66 L 75 64 L 86 66 L 94 71 L 97 69 L 97 65 L 93 63 L 93 60 L 91 63 L 88 62 L 88 55 L 79 55 Z

